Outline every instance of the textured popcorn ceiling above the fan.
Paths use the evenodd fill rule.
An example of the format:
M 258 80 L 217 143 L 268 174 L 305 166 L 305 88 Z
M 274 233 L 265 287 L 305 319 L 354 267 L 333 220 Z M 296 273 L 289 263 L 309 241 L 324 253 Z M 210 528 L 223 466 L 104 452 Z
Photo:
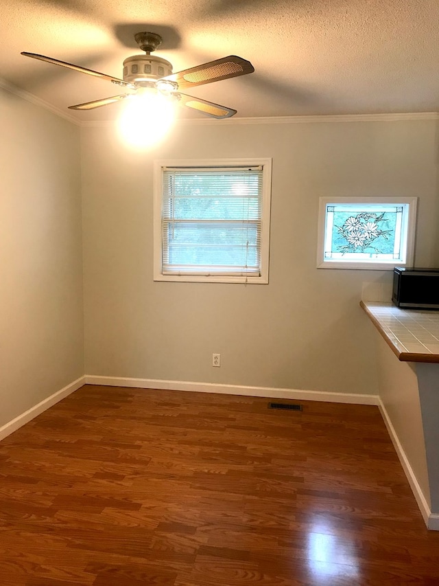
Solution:
M 114 85 L 21 51 L 121 77 L 134 33 L 152 31 L 174 71 L 250 60 L 253 74 L 191 90 L 238 117 L 439 110 L 439 0 L 1 0 L 0 14 L 0 77 L 81 121 L 117 116 L 67 110 Z

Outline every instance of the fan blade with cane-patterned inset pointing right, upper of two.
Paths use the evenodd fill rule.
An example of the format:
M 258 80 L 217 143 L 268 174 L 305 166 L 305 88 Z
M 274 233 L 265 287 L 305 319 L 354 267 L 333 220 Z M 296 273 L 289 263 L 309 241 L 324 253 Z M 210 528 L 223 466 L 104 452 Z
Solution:
M 245 76 L 246 74 L 251 74 L 253 71 L 254 67 L 250 61 L 246 61 L 236 55 L 229 55 L 222 59 L 203 63 L 203 65 L 197 65 L 197 67 L 178 71 L 176 74 L 172 74 L 163 79 L 177 82 L 178 89 L 185 89 L 204 83 Z

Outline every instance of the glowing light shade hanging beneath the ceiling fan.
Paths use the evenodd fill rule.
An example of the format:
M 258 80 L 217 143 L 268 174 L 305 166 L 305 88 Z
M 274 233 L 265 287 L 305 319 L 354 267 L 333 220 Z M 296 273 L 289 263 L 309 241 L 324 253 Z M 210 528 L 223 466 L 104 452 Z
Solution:
M 154 88 L 144 88 L 124 100 L 119 135 L 134 148 L 150 148 L 165 138 L 176 117 L 176 101 Z

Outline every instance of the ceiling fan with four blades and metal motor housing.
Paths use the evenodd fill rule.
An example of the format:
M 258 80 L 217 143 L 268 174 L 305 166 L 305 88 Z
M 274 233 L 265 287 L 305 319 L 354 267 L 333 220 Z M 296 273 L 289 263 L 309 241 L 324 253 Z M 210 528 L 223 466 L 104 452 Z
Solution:
M 187 106 L 214 118 L 228 118 L 237 113 L 236 110 L 227 106 L 220 106 L 219 104 L 181 93 L 180 89 L 251 74 L 254 71 L 254 67 L 250 61 L 236 55 L 230 55 L 173 74 L 172 65 L 169 61 L 156 55 L 151 55 L 161 45 L 162 38 L 160 35 L 154 32 L 138 32 L 134 35 L 134 38 L 142 51 L 145 52 L 145 55 L 133 55 L 123 61 L 123 79 L 36 53 L 22 52 L 21 54 L 26 57 L 47 61 L 47 63 L 54 63 L 54 65 L 68 67 L 69 69 L 80 71 L 82 74 L 108 80 L 126 89 L 126 93 L 112 95 L 110 98 L 69 106 L 71 110 L 92 110 L 124 100 L 130 95 L 141 94 L 145 89 L 152 88 L 156 89 L 158 93 L 176 100 L 182 106 Z

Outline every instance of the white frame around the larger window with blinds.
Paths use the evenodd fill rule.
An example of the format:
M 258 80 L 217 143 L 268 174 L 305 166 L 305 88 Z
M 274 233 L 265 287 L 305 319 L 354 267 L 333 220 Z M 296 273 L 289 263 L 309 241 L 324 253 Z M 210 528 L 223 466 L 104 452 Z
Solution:
M 261 221 L 261 271 L 259 276 L 251 275 L 188 275 L 163 274 L 162 271 L 162 201 L 163 168 L 263 168 L 262 221 Z M 270 208 L 271 208 L 272 159 L 161 159 L 154 161 L 154 281 L 202 282 L 202 283 L 246 283 L 268 284 L 270 258 Z

